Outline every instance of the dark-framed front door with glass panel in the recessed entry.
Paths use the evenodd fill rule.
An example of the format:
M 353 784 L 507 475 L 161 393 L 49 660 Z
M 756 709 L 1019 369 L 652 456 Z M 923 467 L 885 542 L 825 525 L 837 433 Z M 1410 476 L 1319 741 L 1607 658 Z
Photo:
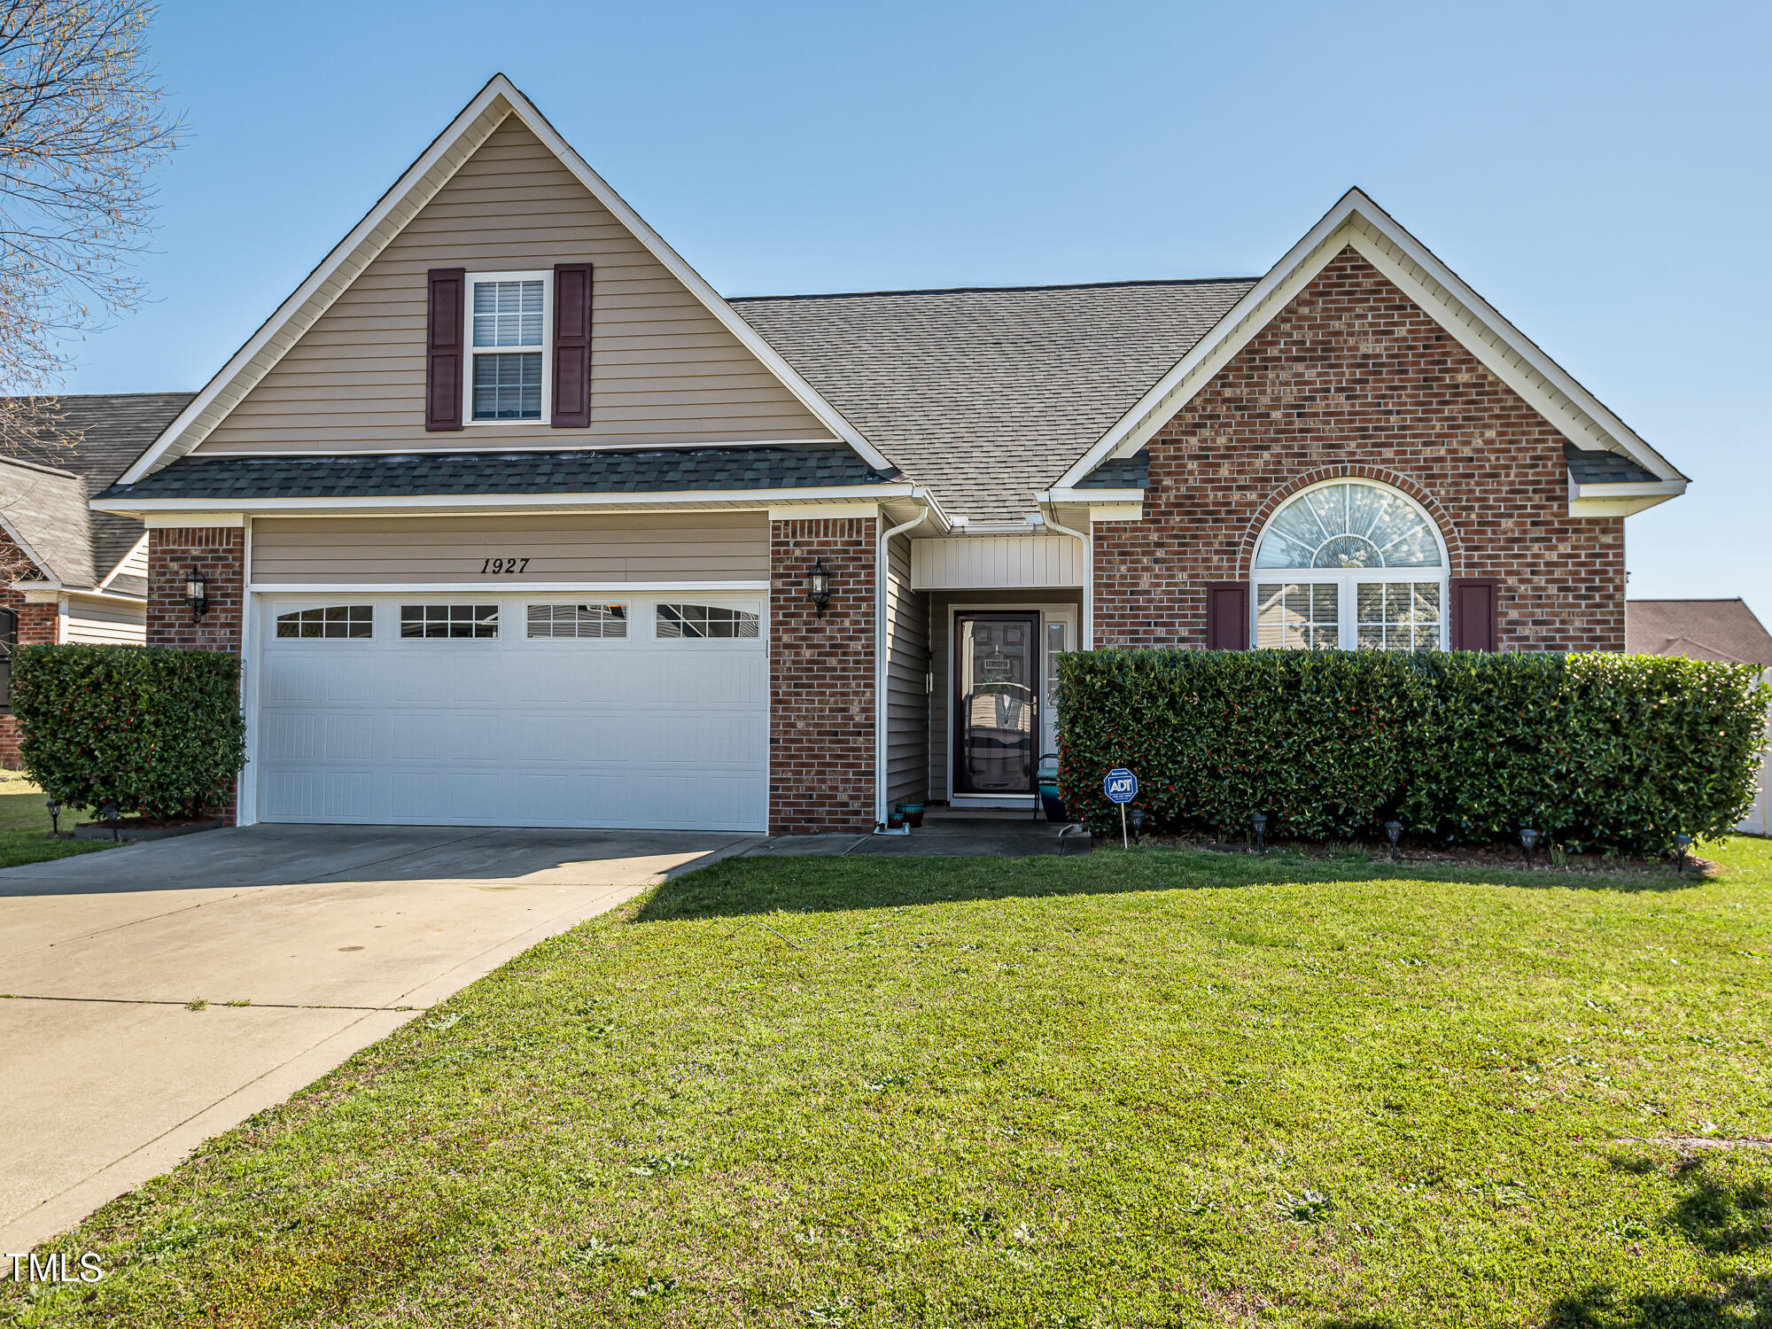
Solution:
M 953 673 L 953 792 L 1033 794 L 1040 615 L 955 615 Z

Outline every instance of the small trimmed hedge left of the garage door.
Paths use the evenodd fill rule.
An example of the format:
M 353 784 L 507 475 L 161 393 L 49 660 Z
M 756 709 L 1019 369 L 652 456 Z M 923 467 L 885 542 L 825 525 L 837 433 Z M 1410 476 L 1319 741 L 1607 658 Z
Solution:
M 239 659 L 163 647 L 19 647 L 12 712 L 30 778 L 74 808 L 197 817 L 246 766 Z

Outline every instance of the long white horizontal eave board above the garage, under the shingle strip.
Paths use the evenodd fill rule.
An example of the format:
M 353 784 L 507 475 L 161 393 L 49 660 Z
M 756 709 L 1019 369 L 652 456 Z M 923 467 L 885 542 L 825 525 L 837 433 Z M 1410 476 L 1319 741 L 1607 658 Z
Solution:
M 652 494 L 365 494 L 361 498 L 108 498 L 94 500 L 99 512 L 120 512 L 140 517 L 149 526 L 237 526 L 248 514 L 363 514 L 392 512 L 424 516 L 427 512 L 464 510 L 558 510 L 587 512 L 599 509 L 771 509 L 806 507 L 819 503 L 888 501 L 895 498 L 923 498 L 911 484 L 882 486 L 828 486 L 817 489 L 689 489 Z

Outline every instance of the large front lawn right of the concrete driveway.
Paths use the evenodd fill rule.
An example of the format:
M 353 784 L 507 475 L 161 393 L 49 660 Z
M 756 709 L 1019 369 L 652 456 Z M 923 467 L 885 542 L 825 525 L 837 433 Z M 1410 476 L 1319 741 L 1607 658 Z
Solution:
M 1772 843 L 1714 879 L 730 859 L 55 1249 L 55 1325 L 1772 1325 Z M 1678 1141 L 1678 1143 L 1671 1143 Z

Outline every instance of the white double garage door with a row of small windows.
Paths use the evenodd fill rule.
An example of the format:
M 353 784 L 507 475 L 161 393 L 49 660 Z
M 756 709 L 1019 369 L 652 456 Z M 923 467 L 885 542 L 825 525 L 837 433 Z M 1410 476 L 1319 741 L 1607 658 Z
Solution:
M 760 595 L 257 606 L 257 817 L 762 831 Z

